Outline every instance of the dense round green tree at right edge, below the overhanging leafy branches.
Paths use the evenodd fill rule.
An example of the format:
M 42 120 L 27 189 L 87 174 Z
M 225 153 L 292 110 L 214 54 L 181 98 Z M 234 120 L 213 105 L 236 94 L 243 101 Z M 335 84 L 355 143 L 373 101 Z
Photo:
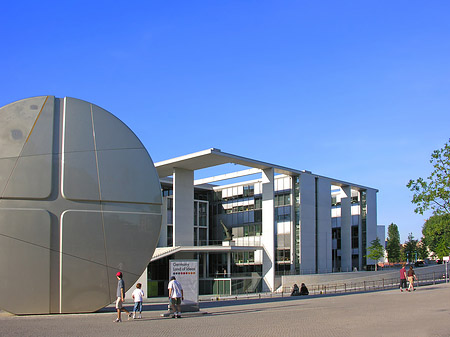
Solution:
M 438 256 L 442 254 L 443 247 L 450 246 L 450 214 L 430 217 L 422 226 L 422 235 L 423 242 L 430 251 Z M 442 256 L 445 255 L 439 257 L 442 258 Z

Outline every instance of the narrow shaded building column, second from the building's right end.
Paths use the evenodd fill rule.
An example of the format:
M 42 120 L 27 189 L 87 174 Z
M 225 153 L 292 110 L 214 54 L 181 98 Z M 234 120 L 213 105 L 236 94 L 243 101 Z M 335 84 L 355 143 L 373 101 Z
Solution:
M 343 186 L 346 197 L 341 198 L 341 270 L 352 270 L 352 189 Z

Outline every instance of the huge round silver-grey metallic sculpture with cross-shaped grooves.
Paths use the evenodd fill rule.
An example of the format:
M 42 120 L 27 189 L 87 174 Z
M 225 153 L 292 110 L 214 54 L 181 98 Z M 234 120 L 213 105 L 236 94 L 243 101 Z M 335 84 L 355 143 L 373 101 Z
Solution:
M 145 270 L 161 187 L 134 133 L 100 107 L 40 96 L 0 108 L 0 308 L 91 312 Z

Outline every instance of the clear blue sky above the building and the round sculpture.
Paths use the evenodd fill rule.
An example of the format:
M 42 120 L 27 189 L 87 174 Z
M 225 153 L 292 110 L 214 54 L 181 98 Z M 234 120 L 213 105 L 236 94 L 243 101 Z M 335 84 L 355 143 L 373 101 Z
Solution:
M 122 119 L 155 162 L 216 147 L 379 189 L 421 236 L 411 178 L 450 138 L 450 2 L 8 1 L 0 106 L 54 95 Z

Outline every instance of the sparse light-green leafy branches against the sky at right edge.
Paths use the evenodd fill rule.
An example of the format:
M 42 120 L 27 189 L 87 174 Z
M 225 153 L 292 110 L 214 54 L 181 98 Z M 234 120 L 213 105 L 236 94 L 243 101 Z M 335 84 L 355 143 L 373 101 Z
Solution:
M 431 209 L 433 214 L 450 214 L 450 139 L 444 147 L 431 154 L 434 171 L 427 179 L 410 180 L 406 185 L 414 192 L 414 212 L 423 214 Z

